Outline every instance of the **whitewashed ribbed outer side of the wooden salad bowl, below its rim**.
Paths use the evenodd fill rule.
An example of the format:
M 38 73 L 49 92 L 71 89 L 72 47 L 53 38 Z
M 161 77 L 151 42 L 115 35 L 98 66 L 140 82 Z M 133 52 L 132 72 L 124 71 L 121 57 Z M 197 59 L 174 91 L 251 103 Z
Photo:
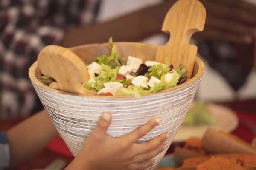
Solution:
M 83 148 L 84 140 L 96 127 L 104 111 L 112 115 L 108 134 L 114 137 L 129 133 L 150 119 L 159 116 L 160 125 L 138 142 L 146 142 L 161 133 L 169 132 L 166 149 L 154 159 L 147 170 L 153 170 L 171 145 L 188 108 L 195 96 L 201 77 L 171 91 L 141 96 L 140 98 L 99 98 L 61 94 L 47 90 L 32 82 L 52 122 L 70 151 L 76 156 Z

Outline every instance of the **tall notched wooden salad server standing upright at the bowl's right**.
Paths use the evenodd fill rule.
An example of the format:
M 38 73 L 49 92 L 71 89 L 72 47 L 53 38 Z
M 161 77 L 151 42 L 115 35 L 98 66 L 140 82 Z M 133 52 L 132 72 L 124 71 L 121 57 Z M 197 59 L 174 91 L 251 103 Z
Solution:
M 181 64 L 187 70 L 188 79 L 191 78 L 197 47 L 189 41 L 195 32 L 204 29 L 206 10 L 198 0 L 179 0 L 168 13 L 163 22 L 162 31 L 170 34 L 166 45 L 157 48 L 156 61 L 164 63 L 166 57 L 177 69 Z

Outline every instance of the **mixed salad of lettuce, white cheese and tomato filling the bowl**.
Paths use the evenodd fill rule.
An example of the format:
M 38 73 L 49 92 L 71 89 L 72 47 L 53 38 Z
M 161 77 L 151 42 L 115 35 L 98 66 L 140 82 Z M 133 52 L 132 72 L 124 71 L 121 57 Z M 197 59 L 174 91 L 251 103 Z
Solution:
M 182 84 L 187 80 L 187 69 L 180 65 L 176 70 L 169 64 L 146 61 L 128 56 L 121 57 L 112 38 L 109 39 L 110 56 L 101 55 L 87 65 L 90 80 L 83 83 L 84 88 L 96 91 L 102 96 L 134 95 L 154 93 Z M 45 85 L 55 80 L 52 77 L 38 78 Z

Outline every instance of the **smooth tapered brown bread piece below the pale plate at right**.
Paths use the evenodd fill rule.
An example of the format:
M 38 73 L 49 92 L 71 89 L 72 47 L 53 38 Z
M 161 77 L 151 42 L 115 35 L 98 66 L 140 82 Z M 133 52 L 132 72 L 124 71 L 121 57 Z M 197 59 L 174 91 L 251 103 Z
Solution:
M 207 153 L 248 153 L 256 154 L 253 148 L 242 139 L 222 131 L 208 128 L 202 139 L 202 147 Z

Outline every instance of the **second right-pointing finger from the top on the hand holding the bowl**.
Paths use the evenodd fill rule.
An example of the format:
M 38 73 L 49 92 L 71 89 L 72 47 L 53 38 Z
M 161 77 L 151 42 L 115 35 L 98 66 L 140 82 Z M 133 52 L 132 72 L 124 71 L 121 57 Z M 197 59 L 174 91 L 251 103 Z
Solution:
M 134 144 L 134 153 L 136 155 L 140 155 L 143 153 L 148 153 L 152 150 L 155 150 L 161 143 L 166 141 L 170 137 L 169 133 L 162 133 L 161 135 L 157 136 L 154 139 L 151 139 L 148 142 L 140 143 L 140 144 Z

